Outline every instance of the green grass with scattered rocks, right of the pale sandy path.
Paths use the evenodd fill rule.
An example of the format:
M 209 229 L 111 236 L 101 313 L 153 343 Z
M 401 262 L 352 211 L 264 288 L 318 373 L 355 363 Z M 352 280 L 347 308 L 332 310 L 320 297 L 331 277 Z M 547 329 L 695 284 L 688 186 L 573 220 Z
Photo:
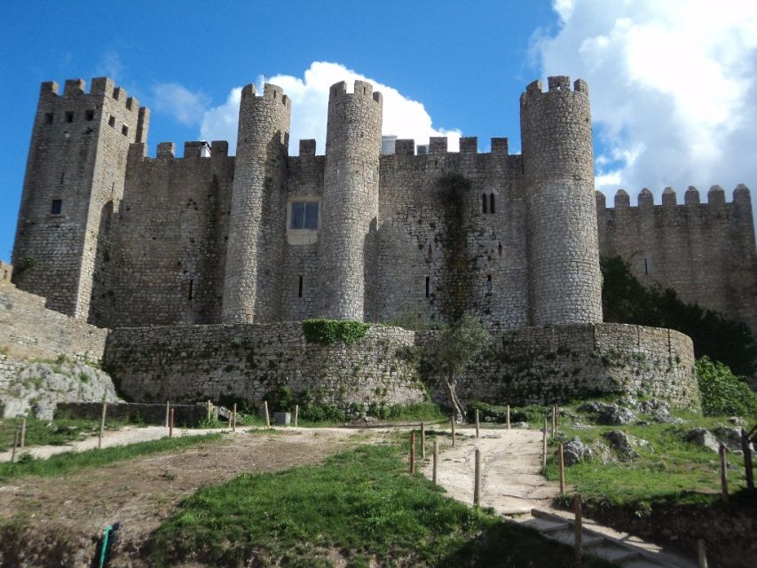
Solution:
M 572 412 L 572 408 L 563 410 Z M 651 448 L 635 447 L 639 457 L 632 461 L 607 464 L 601 461 L 583 461 L 565 468 L 566 483 L 575 485 L 575 491 L 582 493 L 587 499 L 616 505 L 654 500 L 711 501 L 721 490 L 719 456 L 702 446 L 687 442 L 685 434 L 697 426 L 712 429 L 716 425 L 729 425 L 727 417 L 674 414 L 678 414 L 684 422 L 677 425 L 650 422 L 648 425 L 587 428 L 561 424 L 559 430 L 567 439 L 578 437 L 585 444 L 603 439 L 603 434 L 611 430 L 623 430 L 651 443 Z M 587 417 L 578 416 L 580 422 L 587 422 Z M 553 451 L 557 449 L 556 440 L 550 440 L 550 448 Z M 745 487 L 744 458 L 729 453 L 728 460 L 735 467 L 729 469 L 729 489 L 737 492 Z M 549 479 L 558 479 L 554 455 L 548 460 L 547 474 Z M 695 497 L 696 494 L 700 497 Z

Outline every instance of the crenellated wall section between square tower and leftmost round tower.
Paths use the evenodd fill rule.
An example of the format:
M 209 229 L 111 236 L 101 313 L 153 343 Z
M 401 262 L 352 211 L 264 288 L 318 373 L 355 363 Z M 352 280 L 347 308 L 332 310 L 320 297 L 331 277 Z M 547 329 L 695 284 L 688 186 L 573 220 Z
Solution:
M 234 158 L 226 142 L 173 144 L 146 158 L 135 145 L 102 254 L 97 321 L 110 327 L 221 320 Z

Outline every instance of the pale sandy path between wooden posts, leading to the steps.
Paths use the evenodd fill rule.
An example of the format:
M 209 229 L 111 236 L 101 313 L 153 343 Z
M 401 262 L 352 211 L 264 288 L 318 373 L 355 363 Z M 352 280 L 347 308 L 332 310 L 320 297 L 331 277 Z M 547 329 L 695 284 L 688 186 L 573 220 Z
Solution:
M 474 452 L 481 450 L 481 506 L 507 515 L 525 514 L 533 508 L 551 509 L 559 485 L 547 481 L 541 469 L 541 432 L 538 430 L 458 430 L 440 443 L 438 483 L 455 499 L 473 503 Z M 423 469 L 431 477 L 431 465 Z

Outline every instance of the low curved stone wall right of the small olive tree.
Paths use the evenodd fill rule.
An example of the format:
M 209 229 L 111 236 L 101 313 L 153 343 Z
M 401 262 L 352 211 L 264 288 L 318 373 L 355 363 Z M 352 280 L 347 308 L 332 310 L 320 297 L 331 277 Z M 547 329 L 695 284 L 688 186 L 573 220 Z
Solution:
M 418 343 L 433 350 L 434 333 Z M 463 401 L 551 404 L 629 394 L 696 408 L 694 347 L 688 335 L 657 327 L 573 324 L 493 334 L 488 349 L 458 381 Z M 446 402 L 441 375 L 429 375 L 431 398 Z

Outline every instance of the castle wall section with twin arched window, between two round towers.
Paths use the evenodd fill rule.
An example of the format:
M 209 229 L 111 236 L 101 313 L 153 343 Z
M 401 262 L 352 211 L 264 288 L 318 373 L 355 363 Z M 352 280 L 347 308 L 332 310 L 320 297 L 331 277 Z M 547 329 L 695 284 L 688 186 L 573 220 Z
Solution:
M 507 139 L 494 138 L 492 148 L 477 154 L 477 139 L 461 138 L 461 152 L 448 153 L 446 138 L 432 138 L 430 154 L 414 155 L 413 140 L 398 140 L 396 154 L 382 156 L 375 319 L 438 319 L 462 308 L 491 327 L 526 325 L 522 166 Z M 448 172 L 470 182 L 459 215 L 439 185 Z M 456 239 L 462 266 L 449 265 Z M 446 301 L 455 285 L 461 306 Z

